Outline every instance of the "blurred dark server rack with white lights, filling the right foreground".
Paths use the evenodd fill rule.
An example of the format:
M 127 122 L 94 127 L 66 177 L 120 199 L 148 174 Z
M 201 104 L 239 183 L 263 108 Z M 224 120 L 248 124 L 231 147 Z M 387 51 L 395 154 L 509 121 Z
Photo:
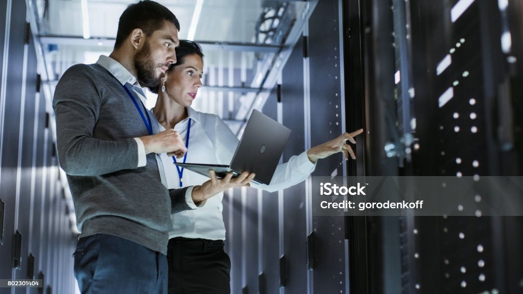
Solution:
M 519 3 L 344 3 L 345 15 L 353 18 L 347 21 L 345 52 L 362 52 L 362 61 L 349 68 L 362 72 L 361 82 L 351 82 L 365 88 L 365 95 L 354 91 L 350 97 L 365 97 L 371 132 L 365 174 L 477 180 L 520 175 L 521 47 L 514 37 L 520 30 L 514 17 L 521 12 Z M 349 265 L 351 289 L 521 291 L 521 253 L 514 247 L 521 246 L 521 217 L 473 213 L 476 217 L 367 217 L 353 224 L 349 236 L 360 241 L 353 242 L 349 259 L 363 260 Z M 354 249 L 365 244 L 361 258 Z M 356 270 L 362 280 L 355 279 Z

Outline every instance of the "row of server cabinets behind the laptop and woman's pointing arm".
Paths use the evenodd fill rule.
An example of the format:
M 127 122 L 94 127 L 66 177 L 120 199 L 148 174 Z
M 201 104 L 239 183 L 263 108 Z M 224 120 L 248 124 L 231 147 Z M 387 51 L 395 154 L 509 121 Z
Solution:
M 341 1 L 315 3 L 302 37 L 294 44 L 264 106 L 266 114 L 292 129 L 283 161 L 336 138 L 346 129 L 342 18 Z M 358 125 L 357 118 L 350 119 L 361 127 L 361 120 Z M 363 156 L 362 149 L 356 152 Z M 350 168 L 356 168 L 353 164 L 349 163 Z M 346 175 L 346 166 L 338 154 L 320 161 L 313 175 Z M 312 216 L 309 201 L 314 191 L 309 181 L 278 193 L 264 192 L 261 198 L 246 195 L 248 209 L 242 215 L 240 206 L 235 208 L 234 203 L 240 201 L 243 193 L 235 189 L 232 198 L 226 197 L 228 201 L 233 199 L 232 206 L 231 202 L 226 203 L 229 211 L 225 211 L 232 227 L 228 228 L 226 243 L 233 260 L 233 293 L 347 292 L 345 220 Z M 238 239 L 245 238 L 237 228 L 240 225 L 246 228 L 244 233 L 248 236 L 243 241 L 243 251 L 242 245 L 237 244 L 241 242 Z M 256 227 L 261 234 L 251 232 Z M 255 240 L 258 260 L 254 258 L 256 250 L 251 248 L 256 247 Z M 238 259 L 244 261 L 244 277 L 238 272 L 241 269 L 235 269 L 241 264 Z

